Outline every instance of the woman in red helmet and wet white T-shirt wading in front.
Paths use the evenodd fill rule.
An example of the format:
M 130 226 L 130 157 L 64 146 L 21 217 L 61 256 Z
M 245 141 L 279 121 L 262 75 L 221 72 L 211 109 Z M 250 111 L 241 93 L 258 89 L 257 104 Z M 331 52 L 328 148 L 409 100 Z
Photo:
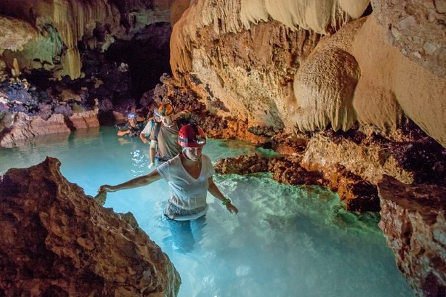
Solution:
M 168 182 L 170 189 L 164 215 L 169 220 L 172 233 L 180 236 L 178 240 L 182 249 L 189 251 L 194 244 L 190 232 L 191 220 L 198 223 L 197 220 L 206 214 L 208 192 L 219 199 L 229 212 L 237 214 L 239 210 L 221 193 L 212 179 L 214 167 L 210 158 L 202 154 L 203 146 L 206 145 L 203 129 L 195 124 L 187 124 L 180 129 L 177 140 L 181 152 L 175 157 L 147 175 L 114 186 L 101 185 L 98 193 L 141 187 L 163 178 Z

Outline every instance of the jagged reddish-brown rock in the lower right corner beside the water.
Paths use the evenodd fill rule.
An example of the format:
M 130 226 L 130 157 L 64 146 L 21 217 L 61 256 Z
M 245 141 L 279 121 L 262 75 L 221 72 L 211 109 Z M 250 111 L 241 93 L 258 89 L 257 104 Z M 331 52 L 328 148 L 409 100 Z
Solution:
M 385 175 L 378 192 L 379 227 L 399 270 L 418 296 L 445 296 L 446 188 L 403 184 Z

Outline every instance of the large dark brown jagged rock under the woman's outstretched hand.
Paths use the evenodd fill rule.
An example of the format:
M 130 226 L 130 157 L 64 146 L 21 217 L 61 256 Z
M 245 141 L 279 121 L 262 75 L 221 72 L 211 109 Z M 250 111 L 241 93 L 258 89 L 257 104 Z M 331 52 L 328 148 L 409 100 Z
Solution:
M 175 296 L 180 277 L 160 247 L 59 167 L 47 157 L 0 182 L 0 295 Z

